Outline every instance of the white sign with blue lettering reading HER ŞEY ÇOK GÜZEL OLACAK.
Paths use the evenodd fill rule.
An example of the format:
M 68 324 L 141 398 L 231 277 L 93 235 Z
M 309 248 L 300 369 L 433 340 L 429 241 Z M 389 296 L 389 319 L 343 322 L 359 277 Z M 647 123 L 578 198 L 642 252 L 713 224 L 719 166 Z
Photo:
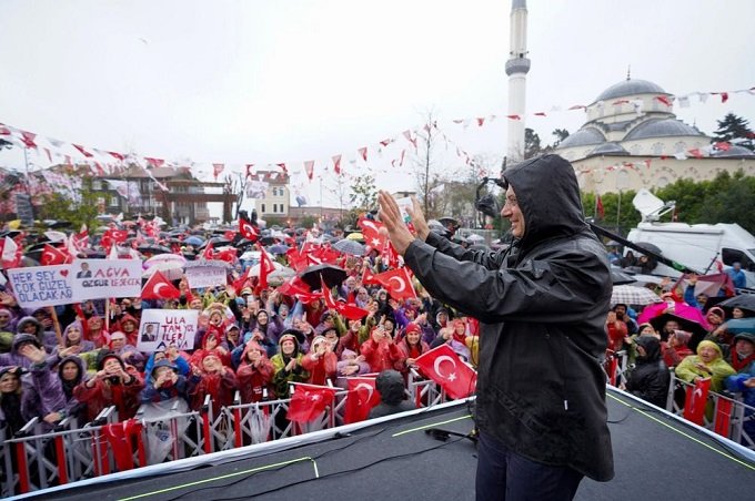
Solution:
M 13 293 L 23 308 L 40 308 L 76 303 L 71 289 L 70 265 L 30 266 L 8 270 Z

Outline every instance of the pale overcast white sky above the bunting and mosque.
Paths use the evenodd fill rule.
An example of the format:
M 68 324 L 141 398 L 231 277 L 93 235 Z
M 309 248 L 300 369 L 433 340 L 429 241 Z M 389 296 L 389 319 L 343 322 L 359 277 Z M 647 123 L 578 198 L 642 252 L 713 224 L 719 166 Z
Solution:
M 582 111 L 554 106 L 592 103 L 630 68 L 680 95 L 755 86 L 751 0 L 531 0 L 527 9 L 525 120 L 545 144 L 553 130 L 584 122 Z M 4 0 L 0 123 L 191 161 L 208 181 L 212 163 L 240 172 L 284 162 L 311 205 L 340 205 L 329 162 L 338 154 L 346 185 L 372 173 L 379 187 L 414 191 L 402 132 L 427 113 L 449 140 L 436 168 L 463 170 L 456 147 L 491 164 L 503 156 L 510 10 L 507 0 Z M 728 112 L 755 126 L 755 94 L 692 101 L 676 113 L 705 133 Z M 541 111 L 547 116 L 532 115 Z M 501 119 L 454 122 L 490 115 Z M 379 156 L 385 139 L 396 141 Z M 20 150 L 2 153 L 0 166 L 23 171 Z

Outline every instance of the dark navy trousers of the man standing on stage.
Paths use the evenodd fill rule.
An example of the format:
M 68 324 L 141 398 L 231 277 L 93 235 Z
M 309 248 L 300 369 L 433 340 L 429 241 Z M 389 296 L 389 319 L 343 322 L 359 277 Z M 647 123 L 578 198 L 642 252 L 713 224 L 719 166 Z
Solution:
M 490 434 L 480 432 L 476 500 L 570 501 L 583 474 L 568 467 L 551 467 L 523 458 Z

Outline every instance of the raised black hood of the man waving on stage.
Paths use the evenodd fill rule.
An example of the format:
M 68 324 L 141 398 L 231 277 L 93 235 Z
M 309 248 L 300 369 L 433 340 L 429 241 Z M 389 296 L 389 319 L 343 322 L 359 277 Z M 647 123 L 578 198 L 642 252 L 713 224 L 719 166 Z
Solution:
M 524 215 L 522 248 L 545 239 L 568 237 L 587 227 L 574 167 L 558 155 L 543 155 L 507 168 Z

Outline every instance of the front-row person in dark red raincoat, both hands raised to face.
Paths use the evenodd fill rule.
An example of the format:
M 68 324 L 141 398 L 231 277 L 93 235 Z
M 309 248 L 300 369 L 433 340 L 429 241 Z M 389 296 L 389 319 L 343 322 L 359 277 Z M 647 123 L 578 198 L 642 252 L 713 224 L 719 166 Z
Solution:
M 87 405 L 87 422 L 91 422 L 105 407 L 115 406 L 118 419 L 124 421 L 135 416 L 139 393 L 144 388 L 139 372 L 127 366 L 112 351 L 100 351 L 97 372 L 73 389 L 73 396 Z

